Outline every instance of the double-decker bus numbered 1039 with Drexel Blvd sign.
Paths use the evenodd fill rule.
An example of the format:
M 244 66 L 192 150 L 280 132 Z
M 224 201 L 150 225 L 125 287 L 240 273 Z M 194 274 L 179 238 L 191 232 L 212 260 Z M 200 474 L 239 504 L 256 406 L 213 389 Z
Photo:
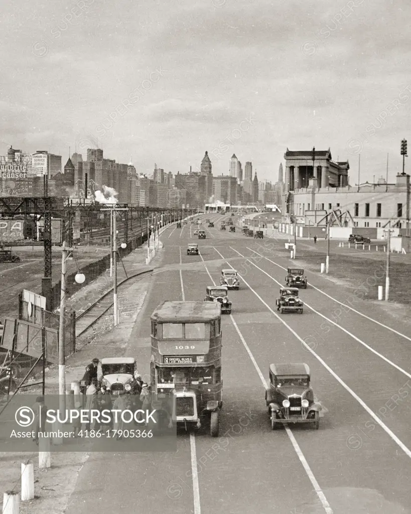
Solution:
M 218 436 L 222 407 L 221 307 L 218 302 L 163 302 L 151 316 L 153 392 L 175 395 L 173 419 L 185 430 L 210 417 Z

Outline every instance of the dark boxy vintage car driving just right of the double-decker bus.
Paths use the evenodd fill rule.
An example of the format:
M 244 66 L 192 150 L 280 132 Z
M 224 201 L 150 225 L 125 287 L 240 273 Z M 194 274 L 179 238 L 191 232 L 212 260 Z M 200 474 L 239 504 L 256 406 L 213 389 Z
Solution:
M 271 428 L 289 423 L 312 423 L 320 427 L 321 403 L 314 400 L 310 369 L 305 363 L 270 364 L 270 387 L 266 405 Z

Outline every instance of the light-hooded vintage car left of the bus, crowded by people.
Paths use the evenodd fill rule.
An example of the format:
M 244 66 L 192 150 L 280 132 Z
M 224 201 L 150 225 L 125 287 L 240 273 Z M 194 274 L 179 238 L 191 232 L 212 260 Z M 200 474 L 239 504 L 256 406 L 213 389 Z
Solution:
M 140 383 L 136 379 L 136 371 L 136 359 L 134 357 L 101 359 L 100 387 L 106 386 L 107 391 L 113 395 L 118 395 L 122 391 L 136 394 L 140 388 Z

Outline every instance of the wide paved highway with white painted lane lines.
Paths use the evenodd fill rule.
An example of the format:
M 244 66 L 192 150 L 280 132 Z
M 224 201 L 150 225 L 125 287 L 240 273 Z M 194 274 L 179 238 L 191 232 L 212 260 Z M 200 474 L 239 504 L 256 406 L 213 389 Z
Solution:
M 207 216 L 202 216 L 204 220 Z M 178 435 L 177 453 L 91 454 L 68 514 L 405 514 L 411 512 L 411 332 L 383 310 L 308 273 L 304 314 L 279 315 L 284 244 L 190 226 L 161 236 L 162 262 L 127 355 L 150 370 L 150 315 L 163 300 L 204 298 L 222 268 L 240 273 L 223 316 L 220 435 Z M 218 223 L 216 223 L 218 222 Z M 202 225 L 204 227 L 204 224 Z M 198 243 L 199 256 L 186 255 Z M 297 261 L 293 264 L 296 264 Z M 106 357 L 102 355 L 101 357 Z M 108 357 L 108 355 L 107 355 Z M 264 400 L 272 362 L 306 362 L 324 411 L 320 429 L 273 432 Z

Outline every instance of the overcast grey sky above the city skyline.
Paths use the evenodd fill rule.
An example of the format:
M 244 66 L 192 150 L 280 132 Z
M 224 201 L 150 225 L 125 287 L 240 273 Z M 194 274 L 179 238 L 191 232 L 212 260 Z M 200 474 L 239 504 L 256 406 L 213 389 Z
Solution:
M 287 147 L 315 145 L 349 160 L 351 184 L 360 153 L 361 182 L 389 153 L 394 180 L 410 18 L 409 0 L 4 2 L 0 153 L 98 146 L 174 174 L 208 150 L 214 175 L 235 153 L 275 181 Z

